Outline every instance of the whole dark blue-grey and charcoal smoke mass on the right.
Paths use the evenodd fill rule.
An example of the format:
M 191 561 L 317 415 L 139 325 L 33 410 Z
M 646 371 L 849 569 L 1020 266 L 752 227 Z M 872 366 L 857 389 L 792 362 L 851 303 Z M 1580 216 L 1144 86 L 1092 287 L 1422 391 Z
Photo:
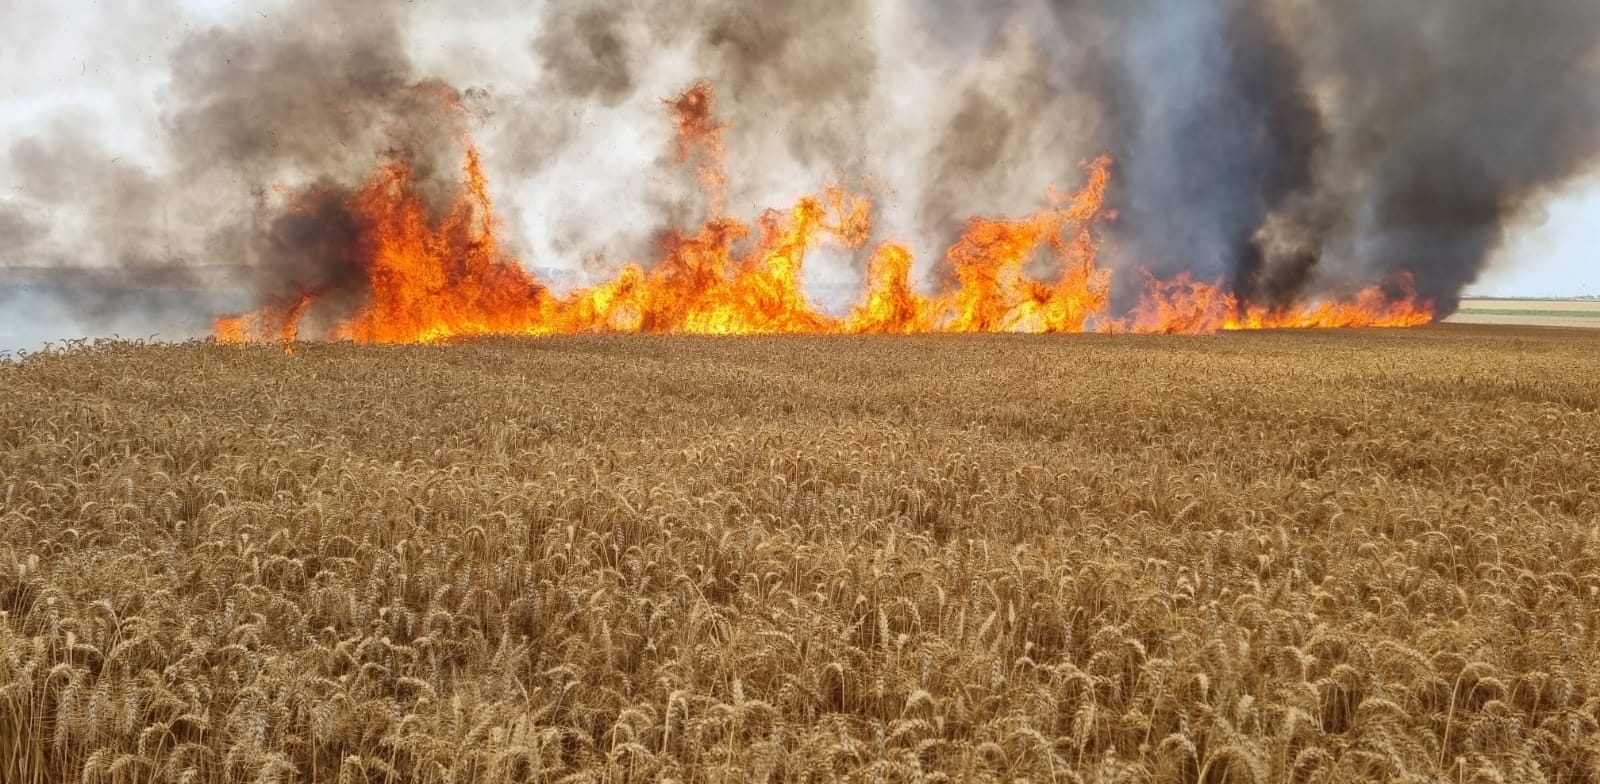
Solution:
M 1414 275 L 1450 312 L 1600 152 L 1590 0 L 1056 0 L 1120 163 L 1123 266 L 1282 304 Z

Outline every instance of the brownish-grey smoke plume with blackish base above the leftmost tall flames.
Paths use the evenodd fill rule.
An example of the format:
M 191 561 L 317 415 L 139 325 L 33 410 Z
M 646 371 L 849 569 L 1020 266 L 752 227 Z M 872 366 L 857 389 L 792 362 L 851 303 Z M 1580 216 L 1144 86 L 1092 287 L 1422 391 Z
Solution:
M 173 53 L 163 125 L 176 174 L 190 189 L 234 192 L 240 211 L 216 242 L 250 262 L 267 304 L 358 299 L 362 226 L 346 202 L 378 162 L 410 165 L 437 211 L 459 187 L 466 104 L 414 72 L 397 8 L 302 3 L 288 22 L 205 30 Z M 302 189 L 293 210 L 266 206 L 261 187 L 274 182 Z

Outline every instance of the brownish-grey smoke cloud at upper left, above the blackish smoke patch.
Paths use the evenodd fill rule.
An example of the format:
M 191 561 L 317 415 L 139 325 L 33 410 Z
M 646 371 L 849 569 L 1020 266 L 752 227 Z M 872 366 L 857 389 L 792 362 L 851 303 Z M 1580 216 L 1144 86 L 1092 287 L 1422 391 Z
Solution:
M 211 29 L 176 48 L 163 125 L 179 176 L 349 186 L 395 155 L 411 163 L 426 194 L 448 197 L 467 106 L 453 86 L 416 74 L 405 6 L 301 5 L 286 22 Z

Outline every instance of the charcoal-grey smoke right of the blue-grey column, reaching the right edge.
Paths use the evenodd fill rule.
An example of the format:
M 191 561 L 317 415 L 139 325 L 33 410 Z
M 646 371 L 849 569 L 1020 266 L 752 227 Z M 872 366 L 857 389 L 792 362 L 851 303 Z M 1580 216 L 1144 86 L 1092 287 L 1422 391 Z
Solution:
M 1330 142 L 1301 230 L 1352 277 L 1453 307 L 1506 230 L 1600 154 L 1589 0 L 1296 3 Z

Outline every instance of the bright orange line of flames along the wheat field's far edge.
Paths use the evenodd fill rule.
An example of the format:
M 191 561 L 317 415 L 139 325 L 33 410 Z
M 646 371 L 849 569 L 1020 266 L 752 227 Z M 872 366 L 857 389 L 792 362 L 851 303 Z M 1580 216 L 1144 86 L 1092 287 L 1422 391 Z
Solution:
M 670 230 L 661 258 L 626 264 L 611 278 L 558 296 L 501 250 L 482 162 L 462 139 L 459 192 L 450 208 L 429 210 L 411 165 L 390 160 L 344 203 L 358 224 L 349 250 L 365 275 L 365 301 L 322 328 L 320 338 L 357 342 L 435 342 L 478 334 L 579 331 L 781 334 L 781 333 L 1216 333 L 1318 326 L 1413 326 L 1432 320 L 1410 280 L 1347 299 L 1262 309 L 1226 286 L 1190 278 L 1149 278 L 1139 302 L 1110 314 L 1112 272 L 1098 264 L 1098 226 L 1106 210 L 1110 158 L 1086 163 L 1074 194 L 1050 194 L 1048 206 L 1019 219 L 973 218 L 944 256 L 947 283 L 917 285 L 917 259 L 901 242 L 882 242 L 866 264 L 848 314 L 830 315 L 805 294 L 808 251 L 830 243 L 859 253 L 872 235 L 872 200 L 834 186 L 754 224 L 725 213 L 723 133 L 710 85 L 667 102 L 678 133 L 678 160 L 693 165 L 706 194 L 707 221 Z M 286 208 L 294 210 L 290 197 Z M 1048 262 L 1054 272 L 1029 272 Z M 283 341 L 326 291 L 219 318 L 219 342 Z

